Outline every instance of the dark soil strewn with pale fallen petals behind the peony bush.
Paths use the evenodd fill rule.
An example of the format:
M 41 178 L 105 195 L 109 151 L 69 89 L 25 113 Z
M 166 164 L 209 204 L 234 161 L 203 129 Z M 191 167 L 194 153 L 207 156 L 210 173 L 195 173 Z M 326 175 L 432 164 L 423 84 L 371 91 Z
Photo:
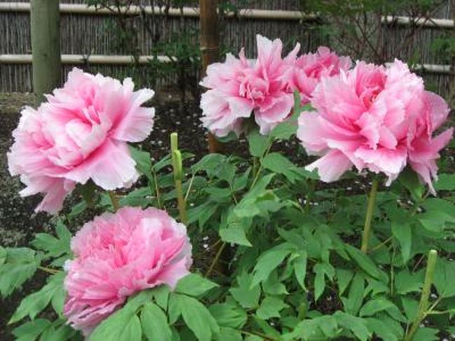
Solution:
M 36 102 L 33 95 L 29 94 L 1 94 L 0 93 L 0 245 L 1 246 L 25 246 L 31 240 L 35 232 L 50 230 L 50 216 L 40 213 L 33 214 L 34 207 L 41 200 L 39 196 L 21 198 L 18 191 L 23 188 L 17 177 L 13 178 L 8 172 L 6 152 L 12 144 L 11 132 L 18 124 L 18 113 L 23 105 L 34 105 Z M 144 141 L 143 148 L 151 153 L 155 160 L 162 158 L 169 150 L 169 134 L 179 133 L 179 146 L 182 150 L 195 154 L 195 159 L 201 158 L 207 153 L 207 132 L 200 123 L 200 109 L 197 101 L 188 99 L 182 100 L 172 89 L 166 89 L 155 95 L 151 103 L 155 106 L 155 126 L 151 137 Z M 453 123 L 453 121 L 452 121 Z M 246 153 L 246 141 L 230 142 L 223 146 L 226 153 Z M 281 142 L 273 147 L 274 151 L 283 151 L 290 159 L 299 165 L 307 163 L 302 158 L 297 141 L 291 140 Z M 455 148 L 444 151 L 444 172 L 454 172 L 455 169 Z M 346 188 L 350 194 L 365 193 L 369 179 L 361 182 L 346 180 L 335 184 L 337 188 Z M 318 188 L 325 188 L 327 185 L 318 183 Z M 334 185 L 332 185 L 334 186 Z M 330 186 L 330 187 L 332 187 Z M 66 207 L 76 198 L 70 198 Z M 89 214 L 90 215 L 90 214 Z M 71 228 L 76 230 L 82 225 L 87 216 L 81 217 Z M 212 240 L 204 237 L 204 243 L 212 244 Z M 204 255 L 207 256 L 207 255 Z M 30 291 L 43 284 L 43 277 L 37 276 L 27 283 L 22 292 L 14 293 L 6 300 L 0 300 L 0 340 L 13 340 L 10 328 L 6 323 L 18 306 L 20 299 Z M 335 303 L 336 300 L 333 300 Z M 327 307 L 329 311 L 331 308 Z

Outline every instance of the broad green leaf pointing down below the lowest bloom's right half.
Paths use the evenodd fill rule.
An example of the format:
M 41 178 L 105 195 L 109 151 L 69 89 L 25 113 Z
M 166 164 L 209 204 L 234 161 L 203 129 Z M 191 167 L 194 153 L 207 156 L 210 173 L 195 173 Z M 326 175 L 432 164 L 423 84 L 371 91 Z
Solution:
M 148 340 L 171 340 L 172 332 L 165 313 L 153 302 L 147 302 L 141 309 L 141 326 Z

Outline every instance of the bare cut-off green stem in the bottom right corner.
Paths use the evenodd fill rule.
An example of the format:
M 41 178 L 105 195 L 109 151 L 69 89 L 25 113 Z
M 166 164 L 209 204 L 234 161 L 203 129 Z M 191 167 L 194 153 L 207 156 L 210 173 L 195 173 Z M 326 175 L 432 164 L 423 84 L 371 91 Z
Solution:
M 417 312 L 416 318 L 414 319 L 414 322 L 412 323 L 411 328 L 409 329 L 409 332 L 405 336 L 405 341 L 412 340 L 412 337 L 414 337 L 414 334 L 419 328 L 421 321 L 423 321 L 423 319 L 425 319 L 426 315 L 428 314 L 428 298 L 430 298 L 431 285 L 433 284 L 436 260 L 437 251 L 430 250 L 428 253 L 428 261 L 426 263 L 425 281 L 423 282 L 422 295 L 419 302 L 419 310 Z

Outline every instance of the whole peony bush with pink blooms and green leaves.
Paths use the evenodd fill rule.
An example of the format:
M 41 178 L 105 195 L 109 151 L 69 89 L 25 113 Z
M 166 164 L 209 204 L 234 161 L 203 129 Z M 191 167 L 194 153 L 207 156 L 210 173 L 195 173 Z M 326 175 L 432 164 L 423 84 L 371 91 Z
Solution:
M 152 162 L 131 143 L 153 137 L 153 91 L 128 78 L 73 69 L 22 111 L 10 173 L 43 195 L 55 233 L 0 247 L 3 297 L 48 275 L 10 317 L 18 340 L 455 334 L 455 174 L 437 167 L 448 104 L 399 60 L 283 57 L 279 39 L 257 39 L 254 60 L 228 55 L 201 81 L 204 127 L 246 137 L 247 157 L 192 164 L 174 133 Z

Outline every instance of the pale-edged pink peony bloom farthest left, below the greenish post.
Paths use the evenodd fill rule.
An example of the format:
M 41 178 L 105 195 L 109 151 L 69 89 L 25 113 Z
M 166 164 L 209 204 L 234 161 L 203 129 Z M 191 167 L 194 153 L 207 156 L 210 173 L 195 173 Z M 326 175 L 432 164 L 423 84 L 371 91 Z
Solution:
M 8 165 L 27 185 L 20 195 L 45 193 L 36 211 L 59 211 L 76 183 L 89 179 L 106 190 L 136 181 L 126 142 L 146 139 L 155 109 L 141 106 L 153 90 L 133 89 L 130 78 L 120 83 L 73 69 L 48 102 L 22 111 Z

